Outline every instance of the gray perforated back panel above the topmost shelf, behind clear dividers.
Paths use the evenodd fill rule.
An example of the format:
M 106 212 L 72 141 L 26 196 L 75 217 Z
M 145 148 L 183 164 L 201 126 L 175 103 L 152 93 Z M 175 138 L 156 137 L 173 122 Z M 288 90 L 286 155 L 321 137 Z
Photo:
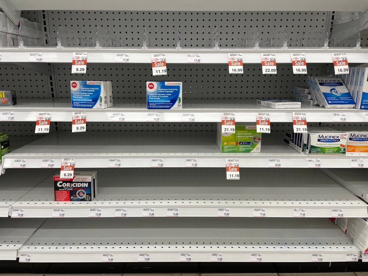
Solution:
M 150 32 L 153 47 L 176 47 L 177 30 L 181 32 L 181 46 L 206 47 L 210 33 L 219 28 L 220 47 L 233 47 L 251 29 L 258 27 L 259 37 L 282 27 L 288 39 L 329 24 L 328 12 L 263 12 L 263 11 L 48 11 L 50 34 L 56 36 L 62 26 L 83 33 L 84 38 L 95 38 L 96 27 L 101 27 L 128 47 L 142 47 L 143 27 Z

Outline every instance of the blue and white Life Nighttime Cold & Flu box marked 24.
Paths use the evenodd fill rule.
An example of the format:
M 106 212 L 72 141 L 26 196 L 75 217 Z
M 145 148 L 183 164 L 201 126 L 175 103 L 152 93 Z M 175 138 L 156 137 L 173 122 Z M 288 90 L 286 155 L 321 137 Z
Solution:
M 182 82 L 146 82 L 147 109 L 181 109 L 182 86 Z

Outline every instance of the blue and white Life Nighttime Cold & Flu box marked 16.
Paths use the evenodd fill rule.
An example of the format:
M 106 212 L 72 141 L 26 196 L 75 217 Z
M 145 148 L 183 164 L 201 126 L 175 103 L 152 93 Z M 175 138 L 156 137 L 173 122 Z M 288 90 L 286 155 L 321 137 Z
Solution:
M 102 109 L 112 106 L 110 85 L 108 81 L 70 81 L 71 107 Z

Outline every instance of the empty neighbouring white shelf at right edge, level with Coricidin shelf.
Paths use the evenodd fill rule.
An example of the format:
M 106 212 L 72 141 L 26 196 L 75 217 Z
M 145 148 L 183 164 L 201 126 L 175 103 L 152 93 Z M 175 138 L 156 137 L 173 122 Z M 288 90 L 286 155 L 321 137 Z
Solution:
M 367 169 L 322 169 L 352 194 L 368 202 Z

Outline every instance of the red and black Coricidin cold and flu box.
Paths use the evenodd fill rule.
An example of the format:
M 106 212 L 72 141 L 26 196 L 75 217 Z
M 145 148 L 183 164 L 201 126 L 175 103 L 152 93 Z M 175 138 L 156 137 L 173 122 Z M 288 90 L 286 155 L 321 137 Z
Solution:
M 54 176 L 55 201 L 92 201 L 93 173 L 74 173 L 73 178 L 62 179 Z

